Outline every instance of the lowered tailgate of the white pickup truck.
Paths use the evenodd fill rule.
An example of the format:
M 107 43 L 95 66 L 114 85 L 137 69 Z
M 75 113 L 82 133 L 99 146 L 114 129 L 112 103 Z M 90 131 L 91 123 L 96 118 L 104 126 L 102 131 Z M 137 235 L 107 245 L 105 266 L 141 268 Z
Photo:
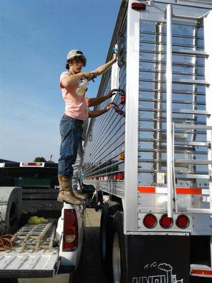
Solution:
M 0 278 L 53 277 L 57 271 L 57 253 L 0 255 Z

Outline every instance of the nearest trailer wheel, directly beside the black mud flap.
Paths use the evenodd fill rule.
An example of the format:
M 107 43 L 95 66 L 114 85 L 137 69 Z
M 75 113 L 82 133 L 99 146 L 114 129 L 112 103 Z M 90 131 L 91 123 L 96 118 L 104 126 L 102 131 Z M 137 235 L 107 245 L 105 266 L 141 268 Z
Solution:
M 126 241 L 124 236 L 123 212 L 114 216 L 114 236 L 112 243 L 112 275 L 114 283 L 127 282 Z

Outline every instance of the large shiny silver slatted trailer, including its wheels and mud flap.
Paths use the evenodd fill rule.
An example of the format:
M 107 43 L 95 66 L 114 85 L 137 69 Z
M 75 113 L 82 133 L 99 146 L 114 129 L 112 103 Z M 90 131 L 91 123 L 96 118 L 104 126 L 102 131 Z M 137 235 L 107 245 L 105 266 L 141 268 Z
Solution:
M 98 96 L 126 96 L 90 121 L 84 174 L 109 195 L 100 234 L 114 282 L 212 282 L 211 9 L 122 1 Z

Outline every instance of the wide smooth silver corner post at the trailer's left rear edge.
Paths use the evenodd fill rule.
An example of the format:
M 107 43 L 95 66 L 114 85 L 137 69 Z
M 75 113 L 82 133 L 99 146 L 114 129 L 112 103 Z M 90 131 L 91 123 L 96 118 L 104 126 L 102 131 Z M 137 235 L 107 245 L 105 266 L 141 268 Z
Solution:
M 126 32 L 124 233 L 138 230 L 139 35 L 140 13 L 129 0 Z

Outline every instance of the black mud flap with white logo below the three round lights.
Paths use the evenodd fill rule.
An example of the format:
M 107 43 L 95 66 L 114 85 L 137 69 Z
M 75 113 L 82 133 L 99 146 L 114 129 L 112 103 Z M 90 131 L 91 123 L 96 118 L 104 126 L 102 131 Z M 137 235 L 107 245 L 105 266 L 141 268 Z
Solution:
M 126 236 L 128 282 L 189 283 L 189 236 Z

